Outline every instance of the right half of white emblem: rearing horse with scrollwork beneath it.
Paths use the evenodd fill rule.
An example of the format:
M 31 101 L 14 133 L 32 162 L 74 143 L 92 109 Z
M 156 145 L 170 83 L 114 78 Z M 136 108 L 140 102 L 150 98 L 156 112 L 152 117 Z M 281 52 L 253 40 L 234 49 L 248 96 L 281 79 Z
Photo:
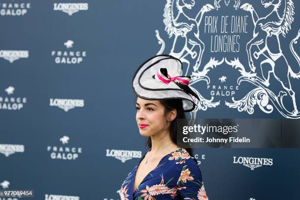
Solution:
M 259 103 L 259 107 L 267 106 L 267 101 L 270 99 L 277 110 L 286 118 L 300 118 L 300 113 L 297 109 L 295 92 L 292 89 L 291 82 L 289 76 L 293 78 L 299 79 L 300 72 L 296 74 L 292 71 L 290 65 L 287 62 L 286 57 L 282 53 L 280 48 L 280 40 L 279 35 L 282 34 L 284 37 L 291 29 L 291 23 L 294 21 L 294 4 L 292 0 L 261 0 L 262 5 L 264 7 L 274 6 L 274 9 L 271 13 L 269 13 L 266 17 L 259 18 L 256 11 L 249 3 L 243 4 L 240 8 L 246 11 L 249 11 L 252 16 L 252 20 L 254 23 L 253 30 L 253 38 L 247 43 L 247 54 L 249 59 L 249 66 L 252 72 L 255 72 L 255 66 L 253 64 L 252 56 L 251 56 L 251 47 L 252 45 L 256 45 L 259 49 L 258 52 L 254 52 L 253 56 L 255 59 L 258 59 L 261 55 L 265 56 L 265 60 L 260 63 L 260 70 L 262 73 L 262 78 L 256 76 L 256 73 L 249 79 L 249 77 L 240 77 L 238 79 L 238 83 L 240 81 L 247 80 L 252 84 L 256 85 L 257 88 L 251 90 L 242 100 L 234 101 L 234 103 L 225 102 L 225 104 L 229 107 L 238 107 L 240 110 L 245 110 L 249 114 L 253 113 L 253 108 L 249 110 L 249 106 L 253 106 L 254 99 Z M 283 11 L 282 11 L 283 10 Z M 283 14 L 279 14 L 279 12 L 283 12 Z M 299 39 L 300 31 L 298 35 L 291 41 L 290 50 L 293 53 L 294 57 L 297 59 L 299 64 L 299 56 L 293 48 L 293 44 L 297 43 Z M 268 47 L 268 40 L 273 38 L 273 41 L 276 41 L 276 47 L 278 47 L 278 51 L 274 53 Z M 263 48 L 259 47 L 264 45 Z M 264 71 L 264 67 L 266 68 L 266 64 L 272 67 L 272 70 Z M 277 66 L 276 66 L 277 65 Z M 280 66 L 280 67 L 279 67 Z M 284 67 L 282 67 L 284 66 Z M 298 67 L 300 69 L 300 66 Z M 293 111 L 288 111 L 287 108 L 284 107 L 283 97 L 287 95 L 286 92 L 280 91 L 278 96 L 275 95 L 270 89 L 267 87 L 270 85 L 270 73 L 273 73 L 276 80 L 278 80 L 283 89 L 286 90 L 293 101 Z M 263 98 L 260 99 L 260 98 Z M 252 103 L 249 103 L 252 102 Z M 244 107 L 244 108 L 243 108 Z M 270 113 L 273 111 L 273 106 L 271 109 L 271 105 L 267 106 L 268 110 L 262 109 L 266 113 Z

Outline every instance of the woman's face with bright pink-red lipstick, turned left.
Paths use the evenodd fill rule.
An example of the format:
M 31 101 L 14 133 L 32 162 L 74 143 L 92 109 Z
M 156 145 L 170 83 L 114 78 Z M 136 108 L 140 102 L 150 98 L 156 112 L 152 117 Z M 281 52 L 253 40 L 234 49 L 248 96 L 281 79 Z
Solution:
M 165 107 L 159 100 L 144 100 L 138 97 L 135 106 L 136 123 L 142 136 L 149 137 L 167 129 Z

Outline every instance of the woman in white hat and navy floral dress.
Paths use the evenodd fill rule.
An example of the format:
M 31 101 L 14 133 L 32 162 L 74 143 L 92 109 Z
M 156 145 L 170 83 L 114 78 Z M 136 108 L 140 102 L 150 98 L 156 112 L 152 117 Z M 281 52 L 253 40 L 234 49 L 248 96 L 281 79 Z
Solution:
M 136 71 L 136 122 L 150 150 L 125 178 L 121 200 L 208 200 L 192 149 L 176 145 L 177 119 L 195 108 L 192 96 L 199 99 L 189 80 L 170 55 L 156 55 Z

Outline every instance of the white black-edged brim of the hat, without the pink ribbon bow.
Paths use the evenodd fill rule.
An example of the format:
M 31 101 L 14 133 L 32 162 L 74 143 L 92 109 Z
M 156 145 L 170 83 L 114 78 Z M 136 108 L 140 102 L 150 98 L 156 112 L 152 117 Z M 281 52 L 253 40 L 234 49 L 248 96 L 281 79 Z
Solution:
M 179 88 L 174 82 L 166 84 L 152 78 L 152 75 L 155 75 L 160 68 L 166 68 L 168 72 L 173 72 L 174 76 L 182 75 L 182 63 L 179 59 L 171 55 L 155 55 L 136 70 L 132 78 L 134 93 L 146 100 L 181 99 L 184 111 L 193 111 L 196 105 L 191 95 Z

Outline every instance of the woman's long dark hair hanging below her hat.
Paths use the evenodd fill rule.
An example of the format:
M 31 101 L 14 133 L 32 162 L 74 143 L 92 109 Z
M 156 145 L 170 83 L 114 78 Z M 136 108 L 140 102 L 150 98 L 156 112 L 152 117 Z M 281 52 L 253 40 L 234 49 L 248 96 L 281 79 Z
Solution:
M 137 100 L 137 99 L 136 99 Z M 170 137 L 174 144 L 176 144 L 178 147 L 182 148 L 183 146 L 180 143 L 177 143 L 177 119 L 183 119 L 184 124 L 188 124 L 187 118 L 185 116 L 185 112 L 183 110 L 183 103 L 181 99 L 168 99 L 168 100 L 159 100 L 161 104 L 165 107 L 165 119 L 167 119 L 168 114 L 173 110 L 176 109 L 177 115 L 176 118 L 171 122 L 169 130 L 170 130 Z M 182 134 L 179 134 L 180 136 Z M 180 141 L 182 141 L 182 138 L 179 138 Z M 148 148 L 151 148 L 151 138 L 147 137 L 146 139 L 146 145 Z M 185 145 L 186 146 L 186 145 Z M 194 157 L 193 155 L 193 149 L 190 148 L 184 148 L 190 156 Z

